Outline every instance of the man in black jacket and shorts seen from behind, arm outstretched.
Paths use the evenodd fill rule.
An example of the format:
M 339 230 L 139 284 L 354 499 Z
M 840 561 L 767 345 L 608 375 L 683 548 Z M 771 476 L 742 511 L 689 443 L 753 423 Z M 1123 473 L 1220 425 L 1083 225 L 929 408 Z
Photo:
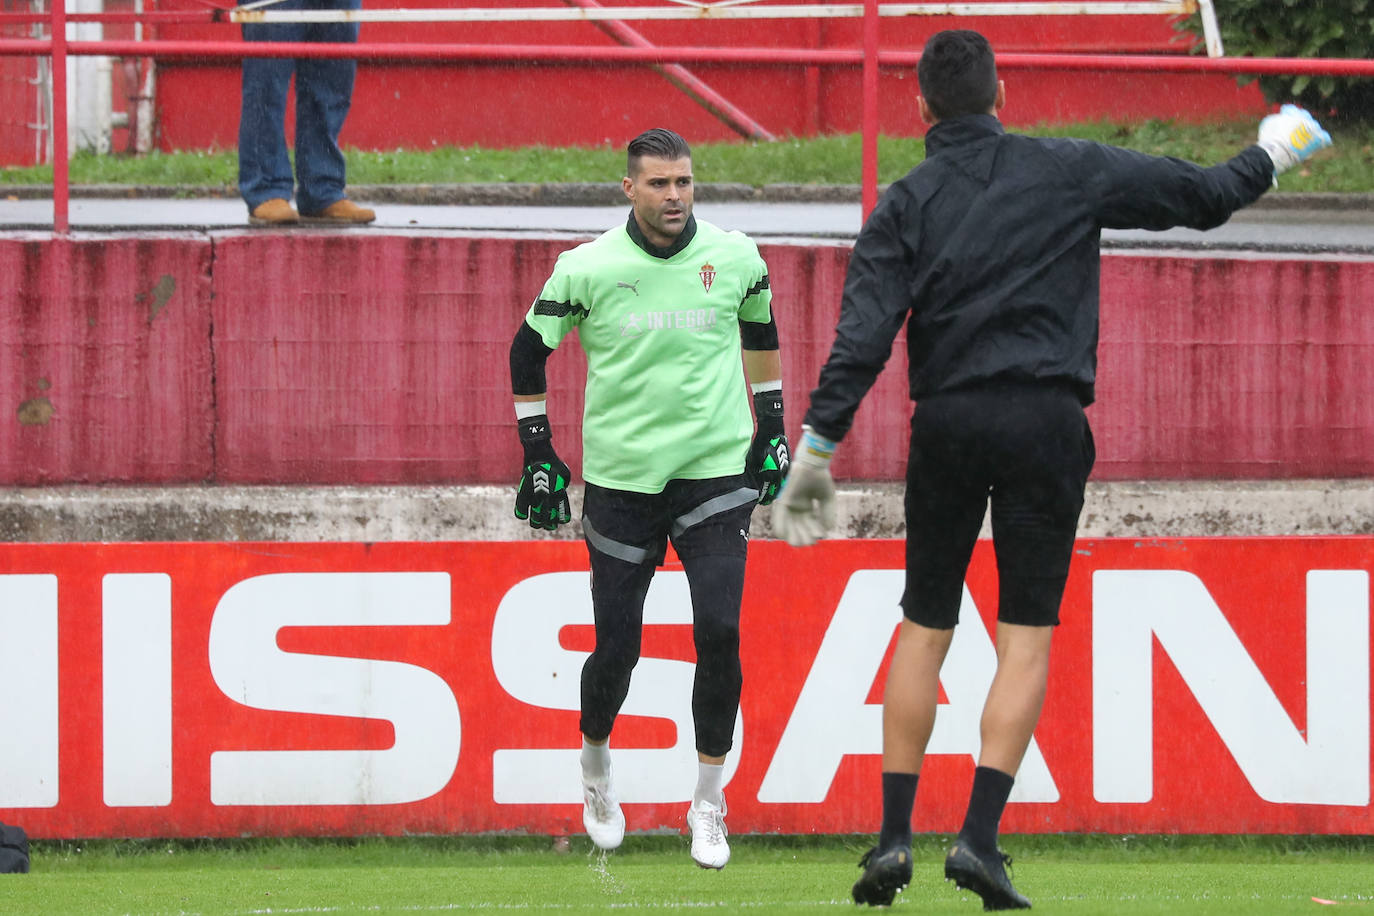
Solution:
M 989 499 L 998 558 L 998 673 L 969 810 L 945 878 L 987 909 L 1030 905 L 1011 886 L 998 825 L 1044 700 L 1088 472 L 1103 228 L 1208 229 L 1254 202 L 1330 137 L 1301 108 L 1213 168 L 1083 140 L 1006 133 L 992 48 L 930 38 L 918 69 L 926 161 L 864 224 L 840 324 L 811 394 L 774 533 L 815 542 L 834 523 L 830 457 L 907 323 L 911 420 L 904 619 L 882 720 L 882 832 L 855 901 L 888 905 L 911 880 L 911 812 L 934 726 L 940 666 Z

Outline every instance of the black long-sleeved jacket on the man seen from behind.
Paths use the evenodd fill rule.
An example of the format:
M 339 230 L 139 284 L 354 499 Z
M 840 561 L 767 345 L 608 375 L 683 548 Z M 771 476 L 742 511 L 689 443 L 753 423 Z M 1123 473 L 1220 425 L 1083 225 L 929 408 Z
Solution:
M 844 438 L 903 321 L 915 401 L 998 379 L 1070 385 L 1091 404 L 1102 229 L 1210 229 L 1272 176 L 1257 146 L 1202 168 L 1006 133 L 988 114 L 936 124 L 855 242 L 805 422 Z

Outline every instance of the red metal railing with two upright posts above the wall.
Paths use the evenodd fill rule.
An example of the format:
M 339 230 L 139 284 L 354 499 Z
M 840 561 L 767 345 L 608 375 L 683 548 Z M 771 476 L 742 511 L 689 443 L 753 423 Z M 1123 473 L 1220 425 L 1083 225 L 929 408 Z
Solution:
M 765 66 L 863 67 L 863 214 L 877 203 L 878 192 L 878 69 L 915 67 L 919 51 L 878 49 L 878 0 L 864 0 L 861 48 L 683 48 L 603 45 L 517 45 L 517 44 L 430 44 L 430 43 L 245 43 L 245 41 L 69 41 L 66 22 L 114 21 L 129 14 L 66 15 L 65 0 L 54 0 L 51 16 L 0 14 L 0 21 L 41 21 L 48 18 L 52 38 L 0 40 L 0 56 L 52 58 L 52 231 L 66 233 L 69 224 L 67 174 L 67 55 L 173 58 L 353 58 L 359 60 L 485 60 L 485 62 L 578 62 L 643 63 L 753 63 Z M 133 14 L 142 16 L 158 14 Z M 173 14 L 184 16 L 187 14 Z M 205 21 L 210 14 L 191 14 Z M 125 21 L 125 19 L 120 19 Z M 185 19 L 179 19 L 185 21 Z M 1138 73 L 1228 73 L 1374 77 L 1374 60 L 1333 58 L 1204 58 L 1187 55 L 1079 55 L 999 54 L 1002 70 L 1106 70 Z

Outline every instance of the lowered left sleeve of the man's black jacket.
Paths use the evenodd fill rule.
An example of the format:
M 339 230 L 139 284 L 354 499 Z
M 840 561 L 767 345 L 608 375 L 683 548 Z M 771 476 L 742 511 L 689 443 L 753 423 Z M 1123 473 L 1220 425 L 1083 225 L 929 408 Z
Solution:
M 849 255 L 835 342 L 804 420 L 837 442 L 849 431 L 859 402 L 888 363 L 892 342 L 911 310 L 911 265 L 919 239 L 918 221 L 904 218 L 908 206 L 904 194 L 889 190 Z

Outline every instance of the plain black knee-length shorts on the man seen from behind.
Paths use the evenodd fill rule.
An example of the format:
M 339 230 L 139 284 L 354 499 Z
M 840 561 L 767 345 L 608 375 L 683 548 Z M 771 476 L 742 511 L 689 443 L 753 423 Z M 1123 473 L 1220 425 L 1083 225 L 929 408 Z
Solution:
M 1069 386 L 987 383 L 922 400 L 907 466 L 905 617 L 934 629 L 959 621 L 991 500 L 998 619 L 1057 625 L 1094 459 Z

